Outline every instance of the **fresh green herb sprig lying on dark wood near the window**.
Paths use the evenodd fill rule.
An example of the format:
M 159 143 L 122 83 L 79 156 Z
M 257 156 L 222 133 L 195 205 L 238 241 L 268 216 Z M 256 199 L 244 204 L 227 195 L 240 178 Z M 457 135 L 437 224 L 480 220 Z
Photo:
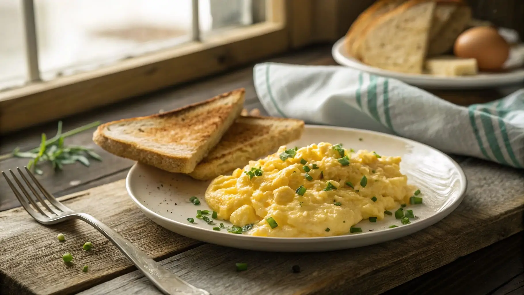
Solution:
M 102 157 L 96 154 L 92 148 L 84 146 L 66 146 L 64 145 L 64 138 L 98 125 L 100 125 L 100 122 L 93 122 L 62 133 L 62 121 L 59 121 L 57 134 L 54 137 L 47 139 L 46 134 L 42 133 L 39 147 L 26 152 L 20 152 L 19 148 L 16 148 L 12 154 L 0 156 L 0 159 L 7 159 L 10 157 L 31 159 L 27 163 L 27 168 L 33 168 L 35 173 L 40 175 L 43 173 L 42 170 L 37 167 L 40 162 L 51 162 L 51 165 L 55 170 L 62 170 L 63 165 L 73 164 L 75 162 L 80 162 L 84 166 L 89 166 L 89 158 L 101 161 Z

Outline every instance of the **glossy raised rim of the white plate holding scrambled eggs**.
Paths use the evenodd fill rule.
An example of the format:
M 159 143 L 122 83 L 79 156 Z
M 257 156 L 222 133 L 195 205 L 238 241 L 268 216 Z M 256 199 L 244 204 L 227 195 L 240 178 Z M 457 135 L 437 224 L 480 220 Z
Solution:
M 304 129 L 305 128 L 346 130 L 346 131 L 362 132 L 362 133 L 368 133 L 368 134 L 374 134 L 374 135 L 379 135 L 379 136 L 385 136 L 385 137 L 389 137 L 389 138 L 405 140 L 408 143 L 411 143 L 411 144 L 414 143 L 414 144 L 422 145 L 422 146 L 430 148 L 430 149 L 432 149 L 432 150 L 434 150 L 436 152 L 439 152 L 440 154 L 442 154 L 448 160 L 451 161 L 451 163 L 455 166 L 455 168 L 459 172 L 460 180 L 461 180 L 462 183 L 464 183 L 464 185 L 461 187 L 461 190 L 459 192 L 459 196 L 456 198 L 456 200 L 454 202 L 452 202 L 451 204 L 445 206 L 444 210 L 439 211 L 438 213 L 435 213 L 435 215 L 438 214 L 439 216 L 441 216 L 441 218 L 437 218 L 436 220 L 434 218 L 433 219 L 432 218 L 424 218 L 423 220 L 418 221 L 416 223 L 410 223 L 410 224 L 398 226 L 398 227 L 395 227 L 395 228 L 390 228 L 388 230 L 389 233 L 391 233 L 391 231 L 396 231 L 398 233 L 398 236 L 400 237 L 400 236 L 402 236 L 402 233 L 404 233 L 404 235 L 406 235 L 406 234 L 410 234 L 410 233 L 421 231 L 424 228 L 427 228 L 427 227 L 429 227 L 429 226 L 431 226 L 431 225 L 441 221 L 447 215 L 451 214 L 462 203 L 462 200 L 464 199 L 464 196 L 465 196 L 466 191 L 467 191 L 467 178 L 466 178 L 466 175 L 464 173 L 464 170 L 462 169 L 462 167 L 460 167 L 459 163 L 457 163 L 455 160 L 453 160 L 450 156 L 446 155 L 444 152 L 442 152 L 442 151 L 440 151 L 440 150 L 438 150 L 438 149 L 436 149 L 434 147 L 431 147 L 429 145 L 420 143 L 419 141 L 412 140 L 412 139 L 409 139 L 409 138 L 396 136 L 396 135 L 391 135 L 391 134 L 382 133 L 382 132 L 376 132 L 376 131 L 373 131 L 373 130 L 365 130 L 365 129 L 341 127 L 341 126 L 331 126 L 331 125 L 313 125 L 313 124 L 305 124 L 304 125 Z M 225 232 L 221 232 L 221 231 L 219 232 L 219 231 L 207 230 L 206 228 L 194 227 L 194 226 L 192 226 L 190 224 L 184 224 L 184 223 L 181 223 L 181 222 L 178 222 L 178 221 L 175 221 L 175 220 L 171 220 L 170 218 L 167 218 L 167 217 L 164 217 L 162 215 L 159 215 L 158 213 L 150 210 L 148 207 L 146 207 L 143 204 L 141 204 L 137 200 L 136 196 L 133 194 L 132 189 L 131 189 L 131 183 L 130 183 L 133 171 L 138 169 L 137 167 L 139 167 L 139 165 L 146 165 L 146 164 L 135 162 L 135 164 L 127 172 L 125 185 L 126 185 L 127 194 L 129 195 L 129 197 L 131 198 L 133 203 L 135 203 L 135 205 L 138 207 L 138 209 L 140 209 L 140 211 L 143 211 L 143 214 L 146 215 L 146 217 L 149 218 L 148 214 L 150 214 L 150 215 L 155 216 L 155 218 L 160 219 L 162 222 L 165 222 L 165 223 L 168 223 L 168 224 L 169 223 L 171 223 L 171 224 L 174 223 L 177 226 L 184 227 L 185 230 L 188 230 L 188 231 L 192 231 L 192 230 L 195 230 L 195 228 L 198 228 L 198 230 L 210 231 L 210 232 L 213 232 L 215 234 L 229 234 L 229 233 L 225 233 Z M 144 211 L 146 211 L 148 214 L 144 213 Z M 149 218 L 149 219 L 151 219 L 151 218 Z M 155 222 L 155 221 L 153 221 L 153 222 Z M 420 230 L 416 230 L 415 227 L 422 227 L 422 228 L 420 228 Z M 255 241 L 255 242 L 256 242 L 256 240 L 258 240 L 260 242 L 266 242 L 266 243 L 267 242 L 277 242 L 277 243 L 286 243 L 286 242 L 293 242 L 293 243 L 318 243 L 318 242 L 321 242 L 321 241 L 340 242 L 340 241 L 346 241 L 346 240 L 347 241 L 360 240 L 360 239 L 366 239 L 366 238 L 380 237 L 381 235 L 384 235 L 386 233 L 387 232 L 384 232 L 384 231 L 378 231 L 378 232 L 358 233 L 358 234 L 354 234 L 354 235 L 344 234 L 344 235 L 327 236 L 327 237 L 265 237 L 265 236 L 251 236 L 251 235 L 235 235 L 234 237 L 235 237 L 235 239 L 240 239 L 240 240 L 244 240 L 245 239 L 245 240 L 248 240 L 248 241 Z M 396 239 L 396 238 L 394 238 L 394 239 Z

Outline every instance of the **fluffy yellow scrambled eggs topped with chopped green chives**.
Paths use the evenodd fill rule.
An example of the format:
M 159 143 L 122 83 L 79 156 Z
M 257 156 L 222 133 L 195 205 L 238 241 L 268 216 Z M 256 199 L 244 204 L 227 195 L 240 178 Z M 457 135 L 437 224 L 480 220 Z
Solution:
M 282 146 L 231 176 L 215 178 L 205 201 L 235 226 L 254 224 L 254 236 L 319 237 L 350 232 L 369 217 L 409 203 L 414 187 L 400 157 L 329 143 Z

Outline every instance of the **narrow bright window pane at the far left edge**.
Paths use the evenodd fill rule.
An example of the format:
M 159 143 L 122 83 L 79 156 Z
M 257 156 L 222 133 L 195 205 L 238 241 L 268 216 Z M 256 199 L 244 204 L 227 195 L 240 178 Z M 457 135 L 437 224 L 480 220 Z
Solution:
M 26 80 L 22 24 L 21 1 L 0 0 L 0 90 Z

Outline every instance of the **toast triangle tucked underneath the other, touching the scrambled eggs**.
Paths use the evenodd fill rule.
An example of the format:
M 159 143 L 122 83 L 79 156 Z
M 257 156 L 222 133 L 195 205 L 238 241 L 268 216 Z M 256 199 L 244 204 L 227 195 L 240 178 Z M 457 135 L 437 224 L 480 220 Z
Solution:
M 267 156 L 302 135 L 304 122 L 298 119 L 245 116 L 236 119 L 224 137 L 189 176 L 209 180 L 250 160 Z

